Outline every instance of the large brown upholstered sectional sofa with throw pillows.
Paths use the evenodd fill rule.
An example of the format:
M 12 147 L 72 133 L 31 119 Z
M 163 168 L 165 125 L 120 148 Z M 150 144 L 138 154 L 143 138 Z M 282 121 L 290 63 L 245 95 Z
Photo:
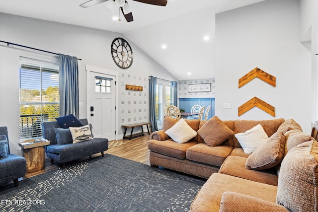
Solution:
M 208 178 L 192 203 L 192 212 L 318 210 L 318 142 L 304 134 L 294 120 L 223 121 L 234 134 L 244 133 L 260 124 L 269 140 L 279 136 L 278 145 L 274 145 L 277 152 L 274 151 L 271 157 L 280 159 L 270 161 L 277 165 L 264 170 L 245 168 L 246 161 L 252 161 L 250 155 L 255 153 L 244 153 L 234 134 L 214 147 L 209 146 L 199 134 L 185 143 L 173 141 L 165 131 L 177 121 L 164 117 L 163 130 L 152 134 L 148 143 L 150 163 Z M 185 121 L 196 132 L 207 123 Z M 215 129 L 209 133 L 221 134 Z M 300 158 L 299 162 L 295 158 Z M 308 158 L 312 160 L 310 164 Z M 296 161 L 296 164 L 291 164 L 291 161 Z M 298 169 L 295 170 L 295 167 Z M 309 173 L 304 174 L 306 172 Z

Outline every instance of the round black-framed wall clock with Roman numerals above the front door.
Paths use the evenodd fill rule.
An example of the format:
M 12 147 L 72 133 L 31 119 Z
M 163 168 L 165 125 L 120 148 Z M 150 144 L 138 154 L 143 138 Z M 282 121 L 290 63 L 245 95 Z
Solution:
M 119 68 L 128 69 L 133 64 L 133 50 L 123 38 L 115 38 L 113 40 L 111 55 Z

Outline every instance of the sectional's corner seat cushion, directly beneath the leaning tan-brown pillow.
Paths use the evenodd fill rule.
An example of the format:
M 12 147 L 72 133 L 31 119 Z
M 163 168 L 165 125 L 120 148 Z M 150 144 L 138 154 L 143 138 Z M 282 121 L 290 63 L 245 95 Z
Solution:
M 275 169 L 266 171 L 246 169 L 246 159 L 246 157 L 230 155 L 222 164 L 219 173 L 277 186 L 278 176 Z

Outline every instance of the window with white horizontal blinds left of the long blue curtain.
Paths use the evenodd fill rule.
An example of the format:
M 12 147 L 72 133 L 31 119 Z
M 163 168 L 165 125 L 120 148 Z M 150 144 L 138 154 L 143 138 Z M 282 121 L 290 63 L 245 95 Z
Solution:
M 42 138 L 42 122 L 59 117 L 59 65 L 20 58 L 19 138 Z

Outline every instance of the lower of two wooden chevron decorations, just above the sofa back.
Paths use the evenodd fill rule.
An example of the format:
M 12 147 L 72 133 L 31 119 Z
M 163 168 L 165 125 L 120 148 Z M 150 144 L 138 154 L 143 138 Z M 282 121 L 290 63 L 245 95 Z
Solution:
M 256 96 L 239 106 L 239 116 L 243 113 L 247 112 L 248 110 L 252 109 L 253 107 L 258 107 L 261 110 L 265 111 L 266 113 L 275 117 L 275 108 L 270 104 L 267 104 L 263 100 L 257 98 Z

